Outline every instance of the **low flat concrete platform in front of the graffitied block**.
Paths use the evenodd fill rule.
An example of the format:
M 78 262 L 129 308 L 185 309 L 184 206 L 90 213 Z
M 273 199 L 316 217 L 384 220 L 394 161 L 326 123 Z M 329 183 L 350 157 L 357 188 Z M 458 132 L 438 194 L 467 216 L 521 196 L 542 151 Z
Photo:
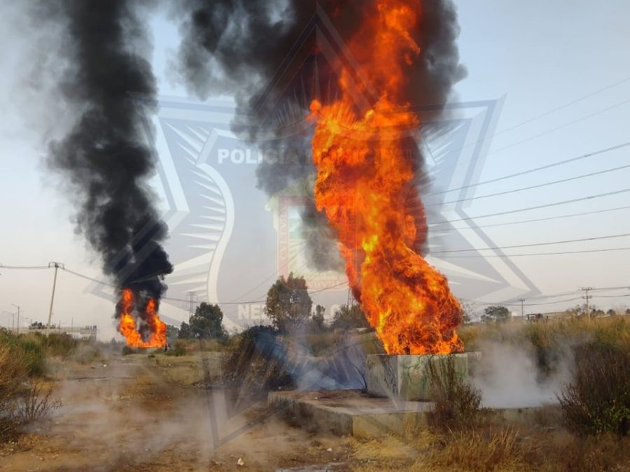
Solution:
M 303 427 L 332 434 L 373 438 L 426 426 L 428 401 L 368 396 L 360 390 L 272 392 L 270 405 L 286 407 Z

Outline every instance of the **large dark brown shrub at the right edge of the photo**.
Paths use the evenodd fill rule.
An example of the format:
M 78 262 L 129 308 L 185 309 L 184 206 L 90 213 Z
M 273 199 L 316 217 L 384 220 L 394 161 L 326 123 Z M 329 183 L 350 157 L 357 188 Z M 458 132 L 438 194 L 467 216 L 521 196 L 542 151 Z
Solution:
M 600 343 L 575 348 L 573 378 L 559 401 L 566 426 L 577 434 L 628 434 L 630 352 Z

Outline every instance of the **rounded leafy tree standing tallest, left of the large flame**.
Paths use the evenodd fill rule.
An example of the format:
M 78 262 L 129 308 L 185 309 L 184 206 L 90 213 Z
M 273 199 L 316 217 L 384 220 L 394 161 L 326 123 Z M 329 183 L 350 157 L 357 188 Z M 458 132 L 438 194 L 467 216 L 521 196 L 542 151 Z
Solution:
M 276 329 L 286 332 L 291 327 L 304 323 L 311 314 L 313 301 L 304 277 L 281 276 L 267 292 L 265 315 L 272 320 Z

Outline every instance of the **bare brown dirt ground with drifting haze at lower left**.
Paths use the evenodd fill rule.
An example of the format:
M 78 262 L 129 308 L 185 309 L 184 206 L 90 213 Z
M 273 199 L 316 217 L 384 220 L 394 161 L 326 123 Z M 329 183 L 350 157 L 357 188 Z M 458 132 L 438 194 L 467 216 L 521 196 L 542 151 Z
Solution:
M 204 371 L 218 369 L 216 353 L 204 356 L 53 363 L 62 406 L 0 447 L 0 470 L 316 471 L 365 464 L 353 457 L 351 438 L 290 427 L 265 401 L 233 410 L 225 392 L 204 387 L 211 378 Z

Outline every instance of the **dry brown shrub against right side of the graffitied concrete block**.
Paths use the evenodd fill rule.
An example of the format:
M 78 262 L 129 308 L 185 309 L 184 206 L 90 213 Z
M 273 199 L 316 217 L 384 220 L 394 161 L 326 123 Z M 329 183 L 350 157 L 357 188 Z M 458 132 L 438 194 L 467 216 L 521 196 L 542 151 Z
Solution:
M 434 429 L 470 426 L 484 411 L 481 392 L 457 369 L 454 356 L 435 357 L 427 364 L 430 397 L 435 408 L 428 415 Z

